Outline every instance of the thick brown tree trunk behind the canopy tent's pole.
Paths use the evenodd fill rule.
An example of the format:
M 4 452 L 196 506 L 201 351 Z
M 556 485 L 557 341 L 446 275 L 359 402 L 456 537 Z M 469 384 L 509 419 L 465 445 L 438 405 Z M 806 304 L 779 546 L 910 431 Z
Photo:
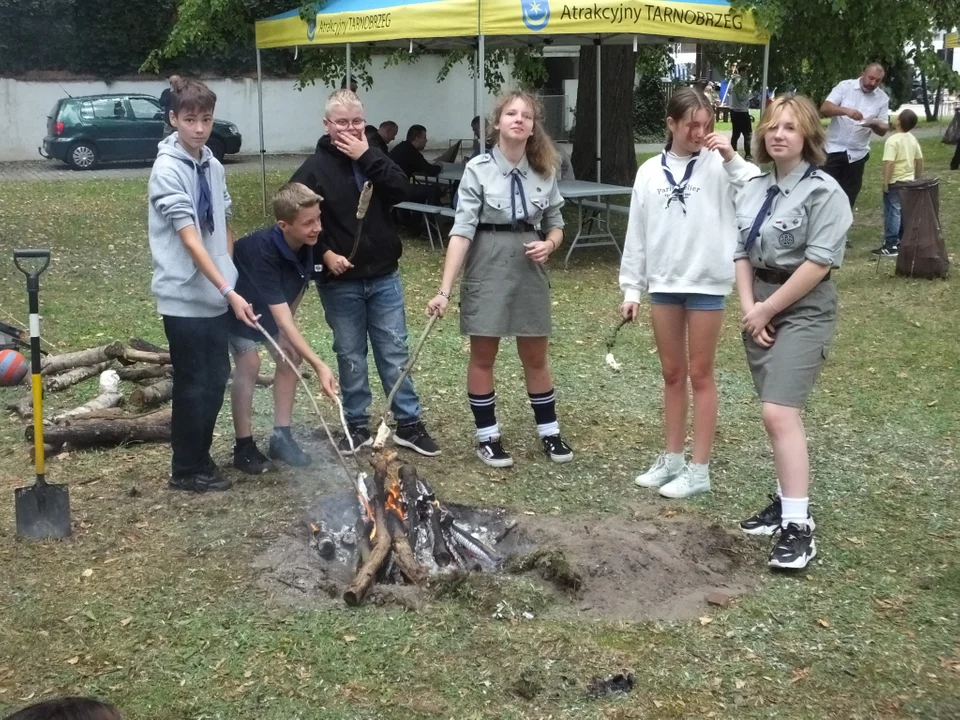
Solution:
M 633 147 L 633 78 L 635 56 L 630 45 L 601 46 L 600 181 L 633 185 L 637 154 Z M 580 48 L 573 168 L 580 180 L 597 179 L 597 48 Z

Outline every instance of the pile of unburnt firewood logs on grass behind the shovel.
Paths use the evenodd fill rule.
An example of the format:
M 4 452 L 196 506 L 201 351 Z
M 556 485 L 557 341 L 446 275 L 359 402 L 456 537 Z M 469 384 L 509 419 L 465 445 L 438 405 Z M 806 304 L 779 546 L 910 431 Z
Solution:
M 100 347 L 61 355 L 48 355 L 41 363 L 44 393 L 58 393 L 98 378 L 98 394 L 79 407 L 61 412 L 45 412 L 44 448 L 55 454 L 65 446 L 109 447 L 129 442 L 169 442 L 169 407 L 173 397 L 173 367 L 170 353 L 145 340 L 112 342 Z M 121 381 L 132 384 L 128 395 Z M 258 378 L 258 385 L 272 384 L 272 377 Z M 24 421 L 33 419 L 31 377 L 27 375 L 27 394 L 7 406 Z M 34 429 L 24 431 L 33 442 Z

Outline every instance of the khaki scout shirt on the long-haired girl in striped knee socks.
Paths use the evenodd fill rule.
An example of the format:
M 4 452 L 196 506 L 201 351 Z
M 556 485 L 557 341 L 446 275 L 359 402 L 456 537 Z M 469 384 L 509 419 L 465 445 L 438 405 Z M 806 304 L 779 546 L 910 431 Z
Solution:
M 563 198 L 557 188 L 557 173 L 548 178 L 539 175 L 524 155 L 516 166 L 523 186 L 521 194 L 513 187 L 513 170 L 499 147 L 467 163 L 460 181 L 451 237 L 459 235 L 473 240 L 479 223 L 509 225 L 514 221 L 527 222 L 539 225 L 544 233 L 563 227 L 560 214 Z

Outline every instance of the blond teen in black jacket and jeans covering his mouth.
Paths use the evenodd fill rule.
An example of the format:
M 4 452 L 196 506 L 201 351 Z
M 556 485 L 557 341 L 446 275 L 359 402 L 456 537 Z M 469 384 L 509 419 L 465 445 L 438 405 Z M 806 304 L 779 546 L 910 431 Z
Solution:
M 404 200 L 408 183 L 396 163 L 370 148 L 364 135 L 363 105 L 354 93 L 333 93 L 324 115 L 327 136 L 320 139 L 317 151 L 293 174 L 291 182 L 303 183 L 324 199 L 323 229 L 317 243 L 323 272 L 317 277 L 317 290 L 333 330 L 350 430 L 339 446 L 346 454 L 373 442 L 367 337 L 384 394 L 396 383 L 408 358 L 403 288 L 397 271 L 402 247 L 390 217 L 391 208 Z M 356 254 L 351 257 L 357 204 L 366 180 L 373 183 L 373 196 Z M 397 391 L 392 409 L 397 419 L 394 442 L 421 455 L 440 453 L 420 419 L 420 400 L 409 376 Z

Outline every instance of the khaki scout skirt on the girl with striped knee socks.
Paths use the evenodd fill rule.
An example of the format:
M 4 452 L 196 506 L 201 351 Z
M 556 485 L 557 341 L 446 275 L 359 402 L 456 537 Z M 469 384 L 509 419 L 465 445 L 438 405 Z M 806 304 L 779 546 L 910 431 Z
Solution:
M 548 337 L 550 283 L 526 256 L 535 231 L 478 230 L 460 281 L 460 332 L 485 337 Z

